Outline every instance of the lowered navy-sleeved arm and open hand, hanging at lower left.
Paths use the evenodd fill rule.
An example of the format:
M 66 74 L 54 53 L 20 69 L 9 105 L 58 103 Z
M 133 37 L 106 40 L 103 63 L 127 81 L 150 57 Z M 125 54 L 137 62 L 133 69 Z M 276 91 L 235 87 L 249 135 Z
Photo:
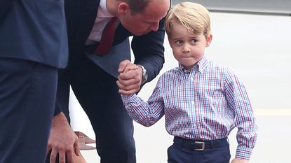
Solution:
M 55 113 L 47 146 L 47 153 L 51 150 L 50 163 L 55 163 L 57 154 L 60 163 L 72 162 L 74 153 L 79 155 L 78 136 L 69 125 L 69 81 L 64 70 L 58 73 Z

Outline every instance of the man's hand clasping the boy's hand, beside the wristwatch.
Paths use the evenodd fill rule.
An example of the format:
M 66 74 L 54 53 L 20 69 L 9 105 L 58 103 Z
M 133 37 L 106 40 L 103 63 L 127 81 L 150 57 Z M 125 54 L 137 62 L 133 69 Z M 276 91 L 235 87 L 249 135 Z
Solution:
M 119 80 L 116 81 L 119 86 L 119 93 L 131 95 L 140 90 L 142 85 L 142 68 L 136 64 L 125 60 L 119 64 Z

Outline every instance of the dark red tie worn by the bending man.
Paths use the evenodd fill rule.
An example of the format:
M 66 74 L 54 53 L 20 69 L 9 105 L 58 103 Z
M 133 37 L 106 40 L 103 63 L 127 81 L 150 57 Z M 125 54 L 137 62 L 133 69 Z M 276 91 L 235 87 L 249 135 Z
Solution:
M 111 20 L 107 23 L 106 27 L 103 30 L 100 43 L 94 52 L 96 55 L 107 55 L 107 53 L 111 49 L 113 39 L 114 39 L 114 31 L 116 28 L 116 22 L 117 22 L 117 18 L 112 17 Z

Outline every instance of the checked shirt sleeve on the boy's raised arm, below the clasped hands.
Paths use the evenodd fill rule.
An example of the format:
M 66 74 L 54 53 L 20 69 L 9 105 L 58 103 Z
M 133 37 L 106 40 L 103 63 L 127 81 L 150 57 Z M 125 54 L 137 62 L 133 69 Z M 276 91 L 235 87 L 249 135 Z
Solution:
M 144 101 L 136 94 L 132 96 L 124 96 L 121 94 L 123 104 L 135 122 L 146 127 L 154 125 L 164 115 L 163 97 L 158 85 L 155 87 L 153 94 L 148 101 Z

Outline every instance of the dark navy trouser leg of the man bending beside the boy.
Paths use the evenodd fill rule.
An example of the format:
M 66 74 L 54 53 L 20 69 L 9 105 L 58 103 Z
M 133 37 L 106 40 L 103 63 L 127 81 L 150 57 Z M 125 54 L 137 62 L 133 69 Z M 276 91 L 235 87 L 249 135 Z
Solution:
M 72 89 L 96 134 L 102 163 L 134 163 L 135 141 L 130 119 L 118 92 L 116 78 L 85 55 L 70 69 Z

